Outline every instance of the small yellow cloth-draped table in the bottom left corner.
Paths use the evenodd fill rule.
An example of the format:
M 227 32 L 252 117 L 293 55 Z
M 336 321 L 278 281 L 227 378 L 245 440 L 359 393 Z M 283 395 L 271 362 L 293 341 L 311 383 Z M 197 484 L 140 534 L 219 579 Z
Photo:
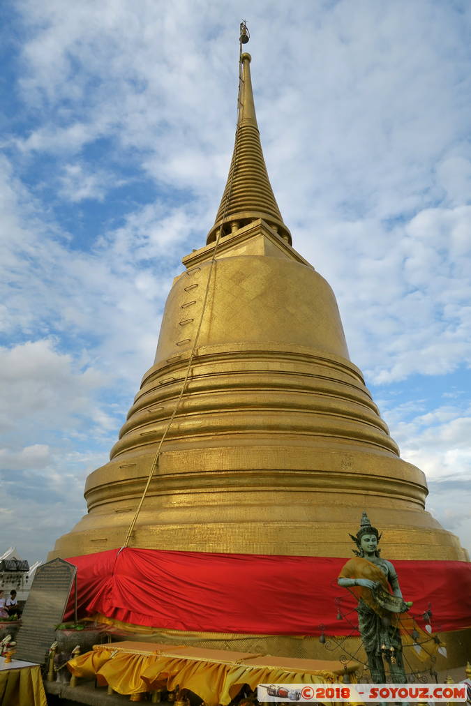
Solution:
M 0 671 L 1 706 L 47 706 L 39 664 Z

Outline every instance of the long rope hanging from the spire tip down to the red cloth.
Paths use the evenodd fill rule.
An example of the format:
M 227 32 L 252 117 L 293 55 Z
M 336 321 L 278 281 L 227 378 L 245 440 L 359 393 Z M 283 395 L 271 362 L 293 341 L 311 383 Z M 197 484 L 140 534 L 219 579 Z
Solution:
M 133 533 L 134 527 L 136 526 L 136 522 L 137 522 L 139 513 L 141 513 L 141 508 L 143 506 L 145 496 L 148 493 L 148 489 L 149 489 L 150 483 L 153 479 L 155 469 L 157 468 L 157 463 L 158 463 L 158 460 L 160 457 L 160 451 L 162 449 L 162 444 L 164 443 L 165 438 L 167 436 L 167 433 L 169 432 L 169 429 L 172 426 L 172 422 L 174 421 L 174 418 L 178 412 L 180 402 L 181 402 L 183 395 L 184 395 L 184 392 L 186 390 L 186 383 L 188 383 L 190 372 L 191 372 L 191 364 L 193 363 L 193 358 L 195 357 L 195 354 L 196 354 L 196 348 L 198 346 L 198 338 L 199 338 L 199 335 L 201 332 L 201 325 L 203 324 L 203 318 L 204 318 L 204 314 L 205 314 L 206 304 L 208 302 L 208 294 L 209 294 L 209 288 L 210 288 L 210 283 L 211 283 L 211 277 L 213 275 L 213 268 L 214 268 L 215 261 L 216 261 L 217 248 L 219 246 L 219 241 L 222 237 L 223 228 L 225 226 L 225 218 L 227 217 L 227 209 L 229 208 L 229 200 L 230 200 L 230 196 L 232 193 L 232 181 L 234 180 L 234 174 L 237 170 L 237 148 L 238 148 L 237 135 L 239 133 L 240 112 L 241 112 L 241 92 L 242 92 L 242 82 L 243 82 L 243 79 L 242 79 L 242 44 L 246 44 L 246 42 L 249 41 L 248 37 L 249 37 L 249 30 L 247 29 L 245 20 L 242 20 L 242 22 L 240 23 L 240 35 L 239 35 L 239 90 L 237 93 L 237 126 L 236 126 L 236 138 L 235 138 L 235 145 L 234 145 L 234 168 L 232 169 L 232 173 L 230 174 L 230 177 L 229 177 L 229 189 L 227 189 L 227 196 L 225 199 L 225 210 L 224 210 L 224 213 L 222 214 L 221 225 L 217 229 L 217 233 L 216 233 L 216 240 L 215 240 L 215 246 L 214 246 L 214 250 L 213 250 L 213 257 L 211 258 L 211 262 L 210 262 L 210 269 L 209 269 L 209 273 L 208 273 L 208 282 L 207 282 L 206 288 L 205 288 L 205 295 L 203 298 L 203 306 L 201 309 L 201 317 L 200 317 L 200 320 L 198 323 L 198 329 L 196 330 L 196 336 L 193 341 L 193 346 L 191 348 L 190 357 L 188 360 L 188 365 L 186 366 L 186 374 L 184 377 L 183 384 L 181 385 L 181 390 L 180 390 L 179 397 L 177 399 L 177 403 L 176 403 L 174 410 L 172 412 L 172 416 L 170 417 L 170 419 L 167 423 L 167 426 L 165 427 L 165 431 L 162 434 L 162 437 L 160 438 L 159 445 L 157 446 L 157 451 L 155 452 L 155 455 L 153 457 L 153 462 L 150 465 L 148 479 L 145 484 L 145 488 L 143 490 L 141 500 L 139 501 L 138 507 L 136 508 L 136 512 L 134 513 L 133 519 L 131 520 L 131 524 L 129 525 L 128 531 L 126 533 L 126 539 L 124 540 L 124 544 L 123 544 L 123 546 L 121 546 L 121 549 L 119 549 L 119 551 L 122 551 L 123 549 L 125 549 L 129 545 L 129 541 L 131 539 L 131 535 Z

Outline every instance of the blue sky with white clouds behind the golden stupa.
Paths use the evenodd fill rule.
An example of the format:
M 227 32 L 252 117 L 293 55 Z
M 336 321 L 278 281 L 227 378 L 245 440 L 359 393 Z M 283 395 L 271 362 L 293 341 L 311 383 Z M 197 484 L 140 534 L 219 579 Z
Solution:
M 32 561 L 83 515 L 232 154 L 239 21 L 294 247 L 428 509 L 471 545 L 471 4 L 6 0 L 0 527 Z

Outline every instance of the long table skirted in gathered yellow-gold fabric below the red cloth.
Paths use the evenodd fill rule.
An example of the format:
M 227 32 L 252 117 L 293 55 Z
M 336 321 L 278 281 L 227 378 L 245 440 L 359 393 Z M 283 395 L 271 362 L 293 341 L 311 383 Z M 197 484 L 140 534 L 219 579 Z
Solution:
M 350 665 L 349 671 L 356 666 Z M 68 669 L 76 676 L 93 675 L 99 684 L 109 684 L 120 694 L 179 687 L 196 693 L 207 706 L 225 706 L 244 684 L 256 689 L 267 682 L 341 682 L 343 666 L 340 662 L 125 641 L 95 645 L 92 652 L 71 659 Z

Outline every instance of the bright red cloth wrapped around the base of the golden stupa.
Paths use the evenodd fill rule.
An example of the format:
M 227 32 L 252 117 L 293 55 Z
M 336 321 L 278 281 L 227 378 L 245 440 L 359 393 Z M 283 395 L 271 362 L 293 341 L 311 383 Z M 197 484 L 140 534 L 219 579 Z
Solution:
M 113 549 L 67 561 L 78 569 L 82 617 L 100 613 L 135 625 L 217 633 L 351 632 L 347 621 L 336 620 L 335 599 L 342 613 L 356 606 L 337 585 L 342 558 Z M 422 616 L 431 603 L 434 631 L 471 626 L 470 563 L 394 566 L 405 600 L 414 602 L 410 615 Z

